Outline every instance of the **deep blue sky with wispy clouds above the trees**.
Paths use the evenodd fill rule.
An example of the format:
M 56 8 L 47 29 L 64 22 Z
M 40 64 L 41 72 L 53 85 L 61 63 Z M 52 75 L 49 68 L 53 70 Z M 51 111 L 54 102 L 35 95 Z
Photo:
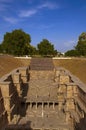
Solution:
M 86 32 L 86 0 L 0 0 L 0 42 L 14 29 L 34 46 L 46 38 L 58 51 L 73 49 Z

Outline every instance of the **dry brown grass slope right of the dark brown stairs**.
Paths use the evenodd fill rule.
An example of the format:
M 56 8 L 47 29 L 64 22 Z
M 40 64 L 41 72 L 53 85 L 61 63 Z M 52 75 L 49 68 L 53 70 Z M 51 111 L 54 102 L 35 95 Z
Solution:
M 86 84 L 86 59 L 58 59 L 54 65 L 66 68 Z

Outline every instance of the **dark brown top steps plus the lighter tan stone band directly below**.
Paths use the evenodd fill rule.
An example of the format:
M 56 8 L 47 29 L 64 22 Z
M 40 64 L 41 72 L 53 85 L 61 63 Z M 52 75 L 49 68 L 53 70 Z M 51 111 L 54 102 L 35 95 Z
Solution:
M 51 58 L 32 58 L 30 63 L 30 80 L 53 79 L 54 64 Z

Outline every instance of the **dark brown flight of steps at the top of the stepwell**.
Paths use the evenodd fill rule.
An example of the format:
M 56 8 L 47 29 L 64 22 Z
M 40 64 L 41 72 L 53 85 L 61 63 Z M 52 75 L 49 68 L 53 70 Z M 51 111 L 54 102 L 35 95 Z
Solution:
M 51 58 L 32 58 L 30 63 L 31 70 L 53 70 L 54 65 Z

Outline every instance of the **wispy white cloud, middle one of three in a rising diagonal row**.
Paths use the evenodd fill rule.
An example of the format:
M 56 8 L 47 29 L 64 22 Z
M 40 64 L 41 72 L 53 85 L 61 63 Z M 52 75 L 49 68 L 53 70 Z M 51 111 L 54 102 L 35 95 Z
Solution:
M 36 14 L 37 10 L 22 10 L 20 11 L 19 17 L 31 17 L 32 15 Z

